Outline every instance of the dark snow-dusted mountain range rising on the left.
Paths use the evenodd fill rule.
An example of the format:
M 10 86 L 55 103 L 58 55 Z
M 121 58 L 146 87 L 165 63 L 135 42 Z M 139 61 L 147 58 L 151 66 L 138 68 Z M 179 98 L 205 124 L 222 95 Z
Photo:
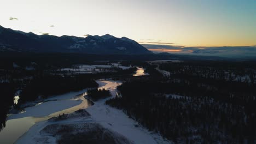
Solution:
M 75 37 L 37 35 L 0 26 L 0 52 L 73 52 L 95 54 L 148 54 L 152 53 L 135 40 L 113 35 Z

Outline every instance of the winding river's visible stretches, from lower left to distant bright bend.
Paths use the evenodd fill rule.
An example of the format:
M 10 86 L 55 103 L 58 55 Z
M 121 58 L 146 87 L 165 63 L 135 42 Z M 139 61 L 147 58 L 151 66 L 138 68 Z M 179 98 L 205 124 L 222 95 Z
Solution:
M 142 76 L 142 75 L 148 75 L 148 74 L 144 73 L 143 68 L 137 67 L 136 74 L 134 74 L 133 76 Z M 102 87 L 104 85 L 111 86 L 110 88 L 112 88 L 112 89 L 111 89 L 110 93 L 112 93 L 112 95 L 115 95 L 114 90 L 117 88 L 118 85 L 120 85 L 120 83 L 115 82 L 115 81 L 105 81 L 105 82 L 107 82 L 107 83 L 104 83 L 103 85 L 101 83 L 99 83 L 100 87 Z M 77 92 L 74 92 L 74 93 L 77 93 Z M 85 99 L 84 98 L 85 95 L 86 95 L 86 90 L 80 91 L 80 94 L 71 95 L 71 97 L 68 97 L 69 99 L 67 99 L 67 97 L 65 97 L 65 94 L 63 94 L 63 97 L 62 97 L 62 95 L 59 95 L 56 97 L 52 97 L 50 99 L 46 99 L 43 103 L 39 103 L 32 107 L 28 107 L 30 110 L 36 109 L 37 110 L 36 113 L 40 114 L 40 113 L 43 113 L 45 111 L 45 109 L 49 109 L 49 107 L 46 107 L 48 105 L 43 105 L 43 104 L 47 104 L 47 103 L 49 104 L 54 101 L 55 105 L 50 107 L 50 109 L 55 109 L 55 111 L 56 110 L 57 111 L 50 113 L 49 115 L 46 115 L 46 116 L 35 117 L 35 116 L 31 116 L 29 112 L 27 112 L 27 113 L 25 112 L 25 114 L 27 114 L 25 116 L 20 116 L 21 114 L 24 114 L 24 113 L 10 115 L 8 117 L 8 121 L 6 122 L 5 128 L 0 132 L 0 142 L 1 143 L 15 143 L 15 141 L 18 140 L 19 137 L 24 135 L 26 133 L 26 131 L 28 131 L 37 122 L 46 121 L 49 118 L 62 115 L 62 113 L 66 113 L 66 114 L 72 113 L 79 109 L 85 109 L 85 108 L 91 106 L 92 102 L 90 100 Z M 57 105 L 62 105 L 64 101 L 73 101 L 73 100 L 79 100 L 80 104 L 74 105 L 67 109 L 62 109 L 62 110 L 59 110 L 60 108 L 56 109 Z M 37 107 L 38 105 L 41 105 L 41 108 L 39 110 Z M 34 113 L 33 113 L 33 115 L 34 115 Z

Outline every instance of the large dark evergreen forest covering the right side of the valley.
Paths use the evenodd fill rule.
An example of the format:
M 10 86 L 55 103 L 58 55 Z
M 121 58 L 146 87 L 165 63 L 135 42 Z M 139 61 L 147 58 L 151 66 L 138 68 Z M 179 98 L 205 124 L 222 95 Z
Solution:
M 106 103 L 177 143 L 255 143 L 255 83 L 195 75 L 184 67 L 174 73 L 175 68 L 168 68 L 172 64 L 163 65 L 170 77 L 131 79 L 118 87 L 121 98 Z M 196 71 L 202 67 L 185 65 Z M 246 66 L 241 70 L 247 71 Z

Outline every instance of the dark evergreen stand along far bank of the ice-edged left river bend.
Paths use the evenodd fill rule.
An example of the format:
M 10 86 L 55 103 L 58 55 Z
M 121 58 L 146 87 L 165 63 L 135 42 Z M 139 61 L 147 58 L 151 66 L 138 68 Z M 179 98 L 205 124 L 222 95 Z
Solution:
M 88 75 L 59 76 L 45 75 L 35 77 L 20 93 L 20 103 L 36 100 L 50 95 L 79 91 L 88 87 L 97 87 L 98 84 Z

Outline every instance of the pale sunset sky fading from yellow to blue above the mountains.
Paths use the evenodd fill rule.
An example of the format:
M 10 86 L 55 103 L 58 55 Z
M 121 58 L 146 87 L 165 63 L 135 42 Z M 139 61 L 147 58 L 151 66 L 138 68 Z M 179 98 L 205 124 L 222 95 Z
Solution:
M 0 0 L 0 25 L 51 35 L 111 34 L 140 44 L 256 45 L 255 0 Z

